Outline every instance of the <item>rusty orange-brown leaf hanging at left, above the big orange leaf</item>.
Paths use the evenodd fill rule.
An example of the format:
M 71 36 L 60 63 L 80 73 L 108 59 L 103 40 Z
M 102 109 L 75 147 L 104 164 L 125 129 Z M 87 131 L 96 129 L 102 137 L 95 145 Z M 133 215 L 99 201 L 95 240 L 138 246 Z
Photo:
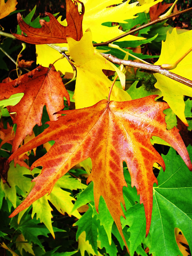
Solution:
M 38 66 L 16 80 L 0 83 L 0 99 L 7 99 L 12 94 L 19 92 L 24 92 L 24 96 L 16 106 L 10 109 L 10 112 L 17 112 L 17 116 L 13 120 L 13 123 L 17 124 L 12 147 L 13 152 L 27 134 L 32 134 L 36 124 L 42 125 L 41 118 L 44 105 L 46 105 L 50 120 L 53 121 L 58 116 L 53 116 L 53 113 L 64 108 L 63 97 L 70 104 L 68 92 L 54 66 L 50 69 Z

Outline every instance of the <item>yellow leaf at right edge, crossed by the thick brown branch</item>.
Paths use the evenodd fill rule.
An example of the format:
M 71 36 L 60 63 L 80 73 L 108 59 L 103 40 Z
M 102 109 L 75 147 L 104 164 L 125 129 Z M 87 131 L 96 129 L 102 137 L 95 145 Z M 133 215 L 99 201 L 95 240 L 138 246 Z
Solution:
M 191 42 L 192 30 L 182 34 L 177 34 L 176 28 L 173 29 L 171 34 L 167 31 L 166 40 L 162 42 L 161 55 L 155 65 L 175 63 L 190 49 Z M 192 80 L 191 66 L 192 52 L 190 52 L 176 68 L 171 70 L 171 72 Z M 184 115 L 185 102 L 183 95 L 192 97 L 192 88 L 161 74 L 154 74 L 154 76 L 157 79 L 155 87 L 161 90 L 163 99 L 169 104 L 175 115 L 188 126 Z

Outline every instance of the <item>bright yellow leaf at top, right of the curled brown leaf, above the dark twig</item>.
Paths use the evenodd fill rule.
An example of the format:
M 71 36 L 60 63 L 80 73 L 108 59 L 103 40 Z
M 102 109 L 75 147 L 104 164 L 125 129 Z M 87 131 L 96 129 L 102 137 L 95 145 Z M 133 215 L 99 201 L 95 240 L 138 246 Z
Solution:
M 157 0 L 155 3 L 146 3 L 142 6 L 137 6 L 137 2 L 129 4 L 130 0 L 122 3 L 122 0 L 103 0 L 95 4 L 91 0 L 82 0 L 85 13 L 83 16 L 83 32 L 86 29 L 90 28 L 93 36 L 93 41 L 100 43 L 110 40 L 114 37 L 124 34 L 122 30 L 119 29 L 119 26 L 107 27 L 102 25 L 104 22 L 118 22 L 118 23 L 127 23 L 125 20 L 134 19 L 137 13 L 143 12 L 146 9 L 150 8 L 154 4 L 161 2 L 162 0 Z M 113 6 L 118 4 L 117 6 Z M 63 25 L 64 22 L 61 22 L 61 16 L 58 18 L 58 21 Z M 121 38 L 118 41 L 125 40 L 138 40 L 140 37 L 128 35 L 125 38 Z

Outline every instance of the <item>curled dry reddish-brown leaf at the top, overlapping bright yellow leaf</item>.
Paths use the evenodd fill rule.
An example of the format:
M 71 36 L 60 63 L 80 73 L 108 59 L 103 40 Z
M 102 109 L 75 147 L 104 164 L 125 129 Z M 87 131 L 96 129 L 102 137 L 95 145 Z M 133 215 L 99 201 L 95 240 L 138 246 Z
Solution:
M 49 16 L 49 21 L 39 20 L 41 28 L 33 28 L 29 26 L 21 17 L 21 14 L 17 14 L 17 21 L 22 30 L 22 34 L 18 35 L 12 33 L 17 39 L 30 44 L 59 44 L 67 43 L 66 36 L 72 37 L 79 41 L 83 36 L 82 20 L 84 15 L 84 5 L 81 3 L 82 11 L 79 13 L 77 2 L 72 0 L 66 0 L 66 20 L 67 26 L 61 25 L 57 19 L 49 12 L 45 12 Z M 27 36 L 24 35 L 27 34 Z

